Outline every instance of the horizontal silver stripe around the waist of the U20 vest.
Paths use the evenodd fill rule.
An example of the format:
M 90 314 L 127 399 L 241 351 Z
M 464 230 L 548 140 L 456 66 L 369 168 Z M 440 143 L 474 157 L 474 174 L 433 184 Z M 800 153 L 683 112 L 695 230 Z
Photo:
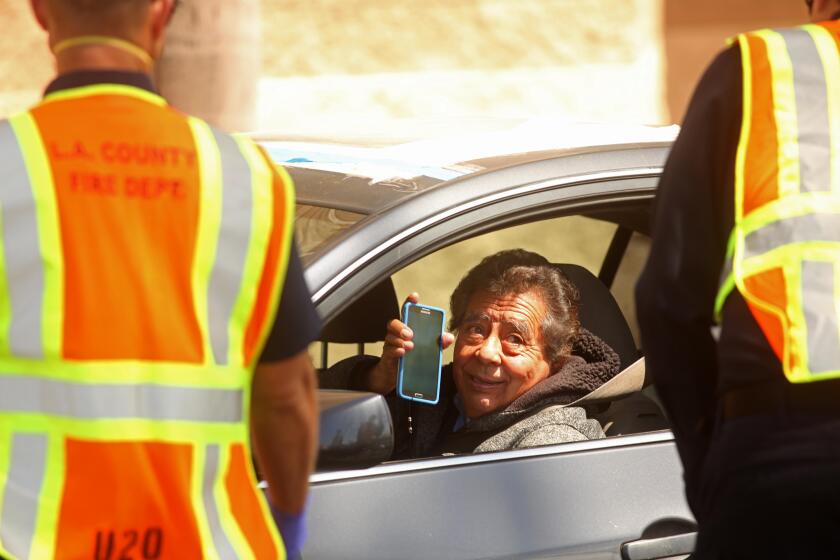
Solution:
M 0 412 L 34 412 L 78 419 L 240 422 L 242 391 L 162 385 L 88 385 L 0 375 Z

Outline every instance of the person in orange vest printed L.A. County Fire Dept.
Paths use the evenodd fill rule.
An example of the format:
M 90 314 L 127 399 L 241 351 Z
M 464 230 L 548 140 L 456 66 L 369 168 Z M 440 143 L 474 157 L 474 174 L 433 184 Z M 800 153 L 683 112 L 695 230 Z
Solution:
M 0 121 L 0 556 L 295 555 L 320 323 L 291 180 L 155 93 L 173 0 L 31 5 L 58 77 Z

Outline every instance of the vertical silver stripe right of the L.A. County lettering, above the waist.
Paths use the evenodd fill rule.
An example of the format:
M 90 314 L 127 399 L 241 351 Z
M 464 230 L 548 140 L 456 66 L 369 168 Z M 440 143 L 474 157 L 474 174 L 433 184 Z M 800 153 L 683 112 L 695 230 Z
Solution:
M 228 323 L 242 286 L 251 241 L 251 168 L 236 141 L 213 130 L 222 159 L 222 219 L 207 291 L 210 346 L 217 364 L 228 363 Z

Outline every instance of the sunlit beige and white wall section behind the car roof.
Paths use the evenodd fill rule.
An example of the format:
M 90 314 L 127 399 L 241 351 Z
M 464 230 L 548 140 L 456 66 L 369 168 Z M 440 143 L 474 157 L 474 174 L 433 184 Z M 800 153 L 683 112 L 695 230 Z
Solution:
M 264 128 L 665 118 L 661 0 L 263 3 Z

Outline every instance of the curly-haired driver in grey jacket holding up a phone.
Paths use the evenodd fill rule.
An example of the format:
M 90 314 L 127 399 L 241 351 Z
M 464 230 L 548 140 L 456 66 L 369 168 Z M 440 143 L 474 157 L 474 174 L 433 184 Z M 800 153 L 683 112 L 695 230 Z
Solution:
M 408 299 L 417 303 L 419 296 Z M 561 406 L 619 370 L 615 352 L 580 327 L 577 299 L 575 287 L 540 255 L 496 253 L 452 294 L 450 328 L 457 338 L 443 336 L 443 346 L 454 341 L 455 352 L 442 372 L 438 405 L 395 395 L 399 359 L 413 347 L 413 333 L 396 319 L 380 358 L 344 360 L 322 374 L 322 386 L 386 395 L 395 458 L 602 438 L 601 426 L 582 408 Z

